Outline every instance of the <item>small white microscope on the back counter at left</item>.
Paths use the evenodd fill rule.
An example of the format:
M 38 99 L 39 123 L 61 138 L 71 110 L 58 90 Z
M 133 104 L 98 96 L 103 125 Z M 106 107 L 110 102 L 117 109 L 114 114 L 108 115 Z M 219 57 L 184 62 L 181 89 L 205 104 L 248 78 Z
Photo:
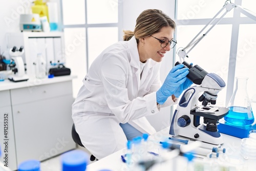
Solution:
M 27 81 L 29 77 L 25 74 L 25 66 L 22 59 L 22 54 L 24 53 L 24 48 L 20 47 L 17 49 L 15 46 L 10 49 L 9 54 L 11 56 L 10 68 L 13 74 L 8 77 L 9 80 L 13 82 Z

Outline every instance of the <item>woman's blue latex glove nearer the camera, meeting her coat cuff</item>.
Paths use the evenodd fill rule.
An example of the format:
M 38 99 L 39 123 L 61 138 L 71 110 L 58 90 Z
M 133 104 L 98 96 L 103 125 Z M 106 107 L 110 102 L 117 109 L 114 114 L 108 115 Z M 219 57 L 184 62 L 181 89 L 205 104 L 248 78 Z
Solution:
M 185 82 L 188 68 L 183 68 L 183 64 L 175 66 L 170 70 L 164 80 L 162 87 L 157 91 L 157 102 L 163 104 L 169 96 L 172 96 L 180 85 Z

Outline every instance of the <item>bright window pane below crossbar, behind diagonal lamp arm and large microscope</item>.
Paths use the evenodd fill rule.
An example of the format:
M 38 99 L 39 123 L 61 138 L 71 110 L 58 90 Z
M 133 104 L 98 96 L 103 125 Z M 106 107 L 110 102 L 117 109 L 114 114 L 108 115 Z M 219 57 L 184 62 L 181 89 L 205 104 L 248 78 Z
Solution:
M 177 48 L 185 47 L 203 27 L 203 25 L 178 26 L 177 41 L 179 44 L 177 45 L 179 46 L 177 46 Z M 231 25 L 215 26 L 215 28 L 188 53 L 188 58 L 185 60 L 188 63 L 193 63 L 194 66 L 200 66 L 208 73 L 218 74 L 227 82 L 228 56 L 231 39 L 231 33 L 228 30 L 231 30 Z M 179 56 L 176 55 L 176 61 L 179 60 Z M 218 93 L 218 105 L 225 105 L 226 89 L 227 87 Z

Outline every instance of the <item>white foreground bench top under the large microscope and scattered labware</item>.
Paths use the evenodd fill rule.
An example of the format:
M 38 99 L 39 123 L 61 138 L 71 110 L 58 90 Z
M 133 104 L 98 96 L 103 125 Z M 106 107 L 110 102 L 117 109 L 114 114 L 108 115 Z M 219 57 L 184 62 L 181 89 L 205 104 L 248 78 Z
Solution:
M 236 170 L 236 171 L 247 171 L 255 170 L 256 163 L 255 160 L 244 159 L 241 156 L 241 139 L 237 137 L 232 137 L 226 134 L 221 134 L 224 139 L 224 143 L 221 145 L 222 148 L 225 148 L 225 153 L 220 152 L 219 156 L 212 153 L 211 158 L 209 155 L 202 156 L 194 154 L 192 162 L 188 162 L 187 158 L 181 155 L 174 155 L 175 152 L 169 151 L 167 155 L 174 155 L 172 159 L 169 159 L 165 162 L 159 162 L 153 165 L 150 169 L 151 171 L 155 170 L 175 170 L 175 171 L 184 171 L 184 170 Z M 147 140 L 147 151 L 154 152 L 157 154 L 164 154 L 161 144 L 157 141 L 163 140 L 166 137 L 172 137 L 169 135 L 169 126 L 165 129 L 157 132 L 154 135 L 148 137 Z M 176 137 L 183 140 L 188 140 L 185 137 Z M 174 141 L 173 141 L 174 142 Z M 181 143 L 182 144 L 182 143 Z M 189 144 L 189 143 L 188 143 Z M 210 144 L 209 144 L 210 145 Z M 208 149 L 209 150 L 209 149 Z M 118 152 L 115 152 L 105 158 L 102 158 L 94 163 L 91 163 L 87 166 L 87 171 L 98 171 L 98 170 L 110 170 L 110 171 L 120 171 L 120 170 L 133 170 L 134 168 L 127 167 L 121 159 L 122 155 L 127 153 L 127 149 L 121 149 Z M 210 150 L 209 150 L 210 153 Z M 165 152 L 166 155 L 166 152 Z M 136 161 L 135 161 L 136 162 Z M 194 168 L 194 169 L 191 169 Z M 136 169 L 137 170 L 137 169 Z M 140 170 L 140 169 L 138 169 Z M 142 169 L 143 170 L 143 169 Z

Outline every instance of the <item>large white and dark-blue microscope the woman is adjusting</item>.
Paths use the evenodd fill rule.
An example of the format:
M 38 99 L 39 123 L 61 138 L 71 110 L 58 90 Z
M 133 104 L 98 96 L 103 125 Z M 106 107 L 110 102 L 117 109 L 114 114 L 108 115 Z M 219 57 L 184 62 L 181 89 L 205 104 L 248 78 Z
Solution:
M 178 64 L 176 62 L 175 65 Z M 217 94 L 226 84 L 217 74 L 207 73 L 198 65 L 192 66 L 186 61 L 183 64 L 189 68 L 187 78 L 197 85 L 189 87 L 182 94 L 170 124 L 169 134 L 211 144 L 223 144 L 223 137 L 217 126 L 219 119 L 228 114 L 228 109 L 214 104 Z

